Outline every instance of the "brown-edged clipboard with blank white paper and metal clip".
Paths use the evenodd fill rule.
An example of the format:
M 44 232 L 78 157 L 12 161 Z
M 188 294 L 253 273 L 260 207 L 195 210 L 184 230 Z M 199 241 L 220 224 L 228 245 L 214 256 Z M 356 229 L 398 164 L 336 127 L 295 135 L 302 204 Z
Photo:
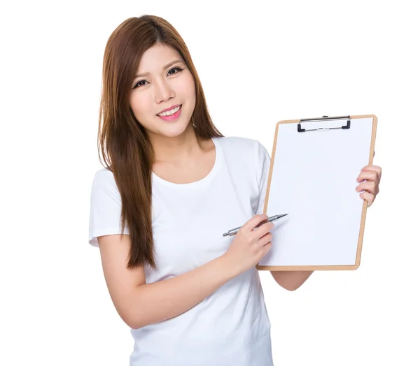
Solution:
M 372 164 L 375 115 L 280 121 L 276 124 L 264 213 L 274 222 L 272 249 L 258 270 L 356 270 L 367 201 L 356 191 Z

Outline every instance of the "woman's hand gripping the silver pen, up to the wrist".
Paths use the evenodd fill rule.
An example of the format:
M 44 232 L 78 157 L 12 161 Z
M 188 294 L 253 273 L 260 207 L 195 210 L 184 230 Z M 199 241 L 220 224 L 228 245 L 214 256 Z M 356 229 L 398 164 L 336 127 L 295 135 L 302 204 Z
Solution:
M 272 222 L 262 224 L 255 228 L 261 221 L 268 219 L 266 214 L 256 214 L 249 219 L 235 235 L 228 251 L 223 256 L 228 263 L 235 268 L 237 274 L 245 272 L 257 265 L 261 259 L 272 248 L 272 233 L 269 230 L 274 228 Z

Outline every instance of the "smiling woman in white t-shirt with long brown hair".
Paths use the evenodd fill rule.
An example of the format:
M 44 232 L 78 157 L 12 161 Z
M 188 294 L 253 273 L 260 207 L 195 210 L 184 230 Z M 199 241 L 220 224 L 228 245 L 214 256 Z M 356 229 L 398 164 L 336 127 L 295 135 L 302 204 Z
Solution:
M 253 230 L 267 219 L 269 154 L 216 129 L 188 48 L 167 21 L 132 17 L 113 31 L 99 122 L 106 168 L 92 184 L 89 240 L 132 328 L 130 365 L 271 366 L 255 265 L 274 225 Z M 374 185 L 360 189 L 371 204 L 380 168 L 367 173 Z M 290 291 L 311 274 L 272 273 Z

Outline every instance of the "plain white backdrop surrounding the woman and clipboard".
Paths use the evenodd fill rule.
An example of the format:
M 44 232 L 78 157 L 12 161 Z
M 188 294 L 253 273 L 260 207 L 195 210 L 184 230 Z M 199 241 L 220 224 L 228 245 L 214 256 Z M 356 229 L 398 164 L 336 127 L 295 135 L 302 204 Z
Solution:
M 377 115 L 383 175 L 360 268 L 316 272 L 293 292 L 261 273 L 274 365 L 420 365 L 415 3 L 2 5 L 0 364 L 128 365 L 130 329 L 87 230 L 104 47 L 128 17 L 152 14 L 186 41 L 225 136 L 271 154 L 281 119 Z

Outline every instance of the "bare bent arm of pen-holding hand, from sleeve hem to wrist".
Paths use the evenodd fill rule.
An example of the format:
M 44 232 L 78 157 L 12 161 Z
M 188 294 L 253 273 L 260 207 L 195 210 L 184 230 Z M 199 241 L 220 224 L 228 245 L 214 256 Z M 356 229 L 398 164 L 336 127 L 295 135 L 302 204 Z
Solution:
M 98 237 L 102 268 L 111 299 L 130 328 L 141 328 L 191 309 L 239 274 L 220 256 L 195 270 L 146 284 L 144 268 L 128 270 L 128 235 Z

